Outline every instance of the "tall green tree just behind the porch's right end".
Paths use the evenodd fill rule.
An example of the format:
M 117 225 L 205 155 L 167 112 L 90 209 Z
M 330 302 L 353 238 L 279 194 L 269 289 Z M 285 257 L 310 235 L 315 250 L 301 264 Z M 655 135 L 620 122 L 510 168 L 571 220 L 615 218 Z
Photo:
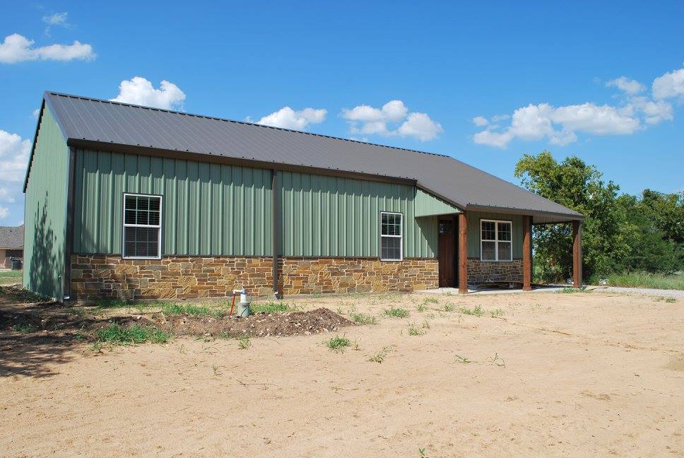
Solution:
M 617 184 L 601 180 L 594 165 L 576 156 L 558 163 L 549 151 L 525 154 L 515 176 L 523 186 L 585 216 L 582 229 L 584 278 L 608 274 L 621 266 L 630 252 L 625 227 L 625 209 L 617 204 Z M 535 263 L 547 281 L 562 281 L 572 275 L 572 228 L 570 224 L 534 226 Z

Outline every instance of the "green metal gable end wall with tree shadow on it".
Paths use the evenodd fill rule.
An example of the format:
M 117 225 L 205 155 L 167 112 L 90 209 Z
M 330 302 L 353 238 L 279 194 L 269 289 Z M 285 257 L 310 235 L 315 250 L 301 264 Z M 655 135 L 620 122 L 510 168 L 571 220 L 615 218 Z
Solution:
M 68 170 L 69 147 L 45 107 L 26 187 L 23 285 L 59 300 L 64 297 Z

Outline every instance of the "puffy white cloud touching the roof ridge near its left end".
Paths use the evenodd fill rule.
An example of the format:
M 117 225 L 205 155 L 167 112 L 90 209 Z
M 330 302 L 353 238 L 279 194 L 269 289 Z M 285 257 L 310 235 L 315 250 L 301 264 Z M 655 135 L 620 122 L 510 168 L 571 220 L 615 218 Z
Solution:
M 124 102 L 165 110 L 182 109 L 185 93 L 178 86 L 163 80 L 159 89 L 142 76 L 134 76 L 119 84 L 119 95 L 112 102 Z

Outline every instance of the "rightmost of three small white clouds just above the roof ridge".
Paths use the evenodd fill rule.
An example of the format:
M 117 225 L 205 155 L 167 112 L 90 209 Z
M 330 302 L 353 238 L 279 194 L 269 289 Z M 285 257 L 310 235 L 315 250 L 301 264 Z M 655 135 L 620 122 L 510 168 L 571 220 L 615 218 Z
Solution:
M 342 117 L 348 120 L 352 134 L 412 136 L 428 141 L 444 131 L 442 125 L 430 119 L 428 114 L 409 113 L 401 100 L 390 100 L 380 108 L 357 105 L 351 110 L 343 109 Z M 389 124 L 394 125 L 389 127 Z

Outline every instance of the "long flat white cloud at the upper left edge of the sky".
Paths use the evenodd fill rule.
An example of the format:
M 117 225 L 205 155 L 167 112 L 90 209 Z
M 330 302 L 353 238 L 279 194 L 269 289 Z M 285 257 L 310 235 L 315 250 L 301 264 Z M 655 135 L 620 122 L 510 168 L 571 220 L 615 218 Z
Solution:
M 48 45 L 33 47 L 33 40 L 14 33 L 5 37 L 0 43 L 0 62 L 16 64 L 33 60 L 70 61 L 93 60 L 93 47 L 86 43 L 74 41 L 71 45 Z

